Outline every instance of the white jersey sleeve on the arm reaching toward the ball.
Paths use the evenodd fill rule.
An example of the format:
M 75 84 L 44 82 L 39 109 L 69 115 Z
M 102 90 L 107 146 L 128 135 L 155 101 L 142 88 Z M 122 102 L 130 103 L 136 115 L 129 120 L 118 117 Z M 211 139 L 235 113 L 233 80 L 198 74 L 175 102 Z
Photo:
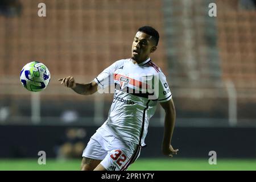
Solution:
M 117 61 L 110 65 L 108 68 L 104 69 L 94 81 L 100 86 L 101 89 L 106 88 L 109 85 L 114 84 L 114 71 L 116 67 Z

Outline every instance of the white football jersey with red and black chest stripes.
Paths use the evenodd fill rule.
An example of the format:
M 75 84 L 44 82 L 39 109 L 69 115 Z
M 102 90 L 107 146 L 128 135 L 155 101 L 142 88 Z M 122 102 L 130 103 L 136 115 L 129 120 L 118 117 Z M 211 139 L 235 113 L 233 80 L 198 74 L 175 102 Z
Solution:
M 101 89 L 114 91 L 108 119 L 102 127 L 117 138 L 145 146 L 148 122 L 157 102 L 172 98 L 160 68 L 150 58 L 140 64 L 122 59 L 106 68 L 94 81 Z

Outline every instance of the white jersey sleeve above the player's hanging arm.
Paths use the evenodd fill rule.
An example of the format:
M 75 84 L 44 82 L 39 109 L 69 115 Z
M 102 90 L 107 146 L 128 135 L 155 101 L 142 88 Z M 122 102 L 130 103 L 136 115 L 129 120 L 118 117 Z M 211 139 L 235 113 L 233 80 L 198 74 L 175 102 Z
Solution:
M 159 73 L 159 93 L 158 93 L 158 101 L 166 102 L 172 98 L 171 90 L 166 81 L 166 76 L 164 76 L 163 72 Z

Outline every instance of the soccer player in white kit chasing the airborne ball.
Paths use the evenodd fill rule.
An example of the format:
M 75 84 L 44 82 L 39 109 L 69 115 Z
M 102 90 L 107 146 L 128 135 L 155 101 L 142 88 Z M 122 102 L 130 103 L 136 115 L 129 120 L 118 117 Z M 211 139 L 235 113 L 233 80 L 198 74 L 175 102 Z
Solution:
M 158 41 L 158 31 L 143 26 L 134 37 L 131 58 L 115 61 L 87 84 L 79 84 L 71 76 L 59 79 L 61 84 L 83 95 L 93 94 L 99 87 L 115 86 L 108 119 L 85 147 L 81 170 L 123 171 L 134 163 L 146 146 L 148 121 L 157 102 L 166 113 L 162 152 L 172 157 L 179 151 L 171 145 L 175 125 L 172 94 L 163 72 L 150 59 Z

